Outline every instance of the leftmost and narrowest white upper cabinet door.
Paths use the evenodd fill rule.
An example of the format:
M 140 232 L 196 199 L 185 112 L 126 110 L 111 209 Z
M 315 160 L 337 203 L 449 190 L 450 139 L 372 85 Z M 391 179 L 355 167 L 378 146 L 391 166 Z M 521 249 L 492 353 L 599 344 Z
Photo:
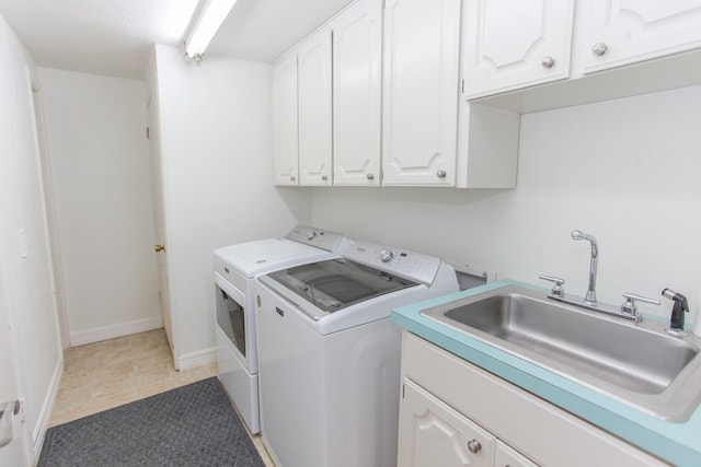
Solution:
M 273 184 L 298 185 L 297 54 L 273 69 Z

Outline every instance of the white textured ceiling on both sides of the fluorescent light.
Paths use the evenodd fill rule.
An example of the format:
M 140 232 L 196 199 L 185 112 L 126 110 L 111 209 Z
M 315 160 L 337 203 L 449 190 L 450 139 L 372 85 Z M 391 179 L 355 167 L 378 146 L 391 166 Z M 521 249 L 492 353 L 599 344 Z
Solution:
M 350 1 L 239 0 L 207 55 L 269 62 Z M 180 46 L 198 3 L 0 0 L 0 14 L 39 66 L 141 79 L 151 45 Z

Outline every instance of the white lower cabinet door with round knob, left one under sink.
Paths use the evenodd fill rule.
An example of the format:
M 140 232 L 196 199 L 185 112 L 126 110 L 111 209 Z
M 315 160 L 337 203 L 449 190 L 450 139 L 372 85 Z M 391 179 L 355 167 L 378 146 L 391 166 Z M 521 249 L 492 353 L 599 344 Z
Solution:
M 398 465 L 492 465 L 496 439 L 409 380 L 404 380 L 399 417 Z

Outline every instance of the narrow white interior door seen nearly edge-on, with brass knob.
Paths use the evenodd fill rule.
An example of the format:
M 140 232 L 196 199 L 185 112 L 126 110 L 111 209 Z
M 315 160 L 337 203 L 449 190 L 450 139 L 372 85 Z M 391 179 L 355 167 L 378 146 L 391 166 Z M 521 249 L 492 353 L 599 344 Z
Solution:
M 159 131 L 159 118 L 158 118 L 158 91 L 154 87 L 152 90 L 151 98 L 149 100 L 149 153 L 151 156 L 151 197 L 153 200 L 153 223 L 154 223 L 154 254 L 158 266 L 158 296 L 161 305 L 161 316 L 163 318 L 163 329 L 165 329 L 165 336 L 168 342 L 171 346 L 171 353 L 173 355 L 173 365 L 175 370 L 179 370 L 179 362 L 175 355 L 177 354 L 175 332 L 173 319 L 171 316 L 170 305 L 170 292 L 168 284 L 168 249 L 165 245 L 165 217 L 163 212 L 163 180 L 162 180 L 162 163 L 161 163 L 161 144 L 160 144 L 160 131 Z

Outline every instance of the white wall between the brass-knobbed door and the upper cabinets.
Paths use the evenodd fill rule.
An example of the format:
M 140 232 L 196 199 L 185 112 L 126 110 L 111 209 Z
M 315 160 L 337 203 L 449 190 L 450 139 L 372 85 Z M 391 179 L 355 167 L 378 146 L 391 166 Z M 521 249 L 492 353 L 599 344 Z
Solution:
M 175 358 L 215 359 L 211 252 L 311 219 L 306 189 L 272 186 L 267 65 L 156 46 Z M 147 79 L 147 82 L 149 80 Z

